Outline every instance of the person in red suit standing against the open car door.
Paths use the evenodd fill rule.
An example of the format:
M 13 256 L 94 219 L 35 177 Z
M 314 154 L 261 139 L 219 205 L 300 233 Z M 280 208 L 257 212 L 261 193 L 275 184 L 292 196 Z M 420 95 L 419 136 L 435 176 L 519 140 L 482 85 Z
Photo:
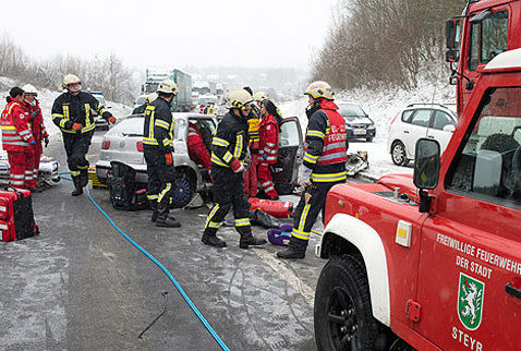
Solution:
M 258 125 L 260 136 L 258 181 L 269 199 L 279 199 L 279 195 L 275 190 L 270 167 L 270 165 L 277 164 L 279 149 L 279 124 L 282 118 L 277 111 L 274 102 L 264 100 L 260 108 L 263 119 Z

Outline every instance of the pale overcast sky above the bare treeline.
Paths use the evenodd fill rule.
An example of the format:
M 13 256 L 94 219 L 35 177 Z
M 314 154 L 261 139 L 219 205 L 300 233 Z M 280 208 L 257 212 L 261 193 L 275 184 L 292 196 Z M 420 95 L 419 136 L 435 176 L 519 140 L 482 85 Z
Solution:
M 0 29 L 32 58 L 114 52 L 140 68 L 307 69 L 337 0 L 23 0 Z

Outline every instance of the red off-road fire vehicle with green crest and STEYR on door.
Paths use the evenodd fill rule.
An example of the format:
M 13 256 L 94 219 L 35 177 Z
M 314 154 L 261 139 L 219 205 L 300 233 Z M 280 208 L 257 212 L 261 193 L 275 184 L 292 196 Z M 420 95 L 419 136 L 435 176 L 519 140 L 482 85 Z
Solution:
M 521 350 L 521 49 L 478 61 L 472 82 L 443 156 L 420 140 L 413 177 L 329 192 L 319 351 Z

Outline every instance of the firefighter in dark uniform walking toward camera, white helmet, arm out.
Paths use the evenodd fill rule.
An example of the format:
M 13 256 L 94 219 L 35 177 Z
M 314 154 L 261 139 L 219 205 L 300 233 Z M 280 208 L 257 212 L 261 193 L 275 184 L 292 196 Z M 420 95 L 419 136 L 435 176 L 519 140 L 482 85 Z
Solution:
M 52 122 L 62 132 L 66 164 L 74 183 L 72 196 L 77 196 L 83 194 L 83 187 L 88 183 L 86 155 L 96 128 L 92 111 L 110 123 L 114 123 L 116 118 L 94 96 L 82 92 L 82 82 L 76 75 L 65 75 L 62 86 L 66 92 L 52 105 Z

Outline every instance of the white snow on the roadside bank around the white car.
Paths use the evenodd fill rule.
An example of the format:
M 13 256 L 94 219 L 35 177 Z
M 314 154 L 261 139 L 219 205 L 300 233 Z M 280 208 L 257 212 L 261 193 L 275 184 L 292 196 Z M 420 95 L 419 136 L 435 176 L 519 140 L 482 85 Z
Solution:
M 378 179 L 389 173 L 412 174 L 413 172 L 412 162 L 408 167 L 400 167 L 392 164 L 390 157 L 390 152 L 387 146 L 387 135 L 390 122 L 395 116 L 409 104 L 413 102 L 455 104 L 456 88 L 438 82 L 437 85 L 422 84 L 411 90 L 381 89 L 374 92 L 368 89 L 354 89 L 336 94 L 336 100 L 359 104 L 375 122 L 376 137 L 374 141 L 372 143 L 350 141 L 349 153 L 359 150 L 367 152 L 369 167 L 361 173 L 371 179 Z M 295 101 L 283 102 L 279 106 L 283 117 L 299 118 L 304 133 L 307 126 L 306 107 L 306 96 Z

